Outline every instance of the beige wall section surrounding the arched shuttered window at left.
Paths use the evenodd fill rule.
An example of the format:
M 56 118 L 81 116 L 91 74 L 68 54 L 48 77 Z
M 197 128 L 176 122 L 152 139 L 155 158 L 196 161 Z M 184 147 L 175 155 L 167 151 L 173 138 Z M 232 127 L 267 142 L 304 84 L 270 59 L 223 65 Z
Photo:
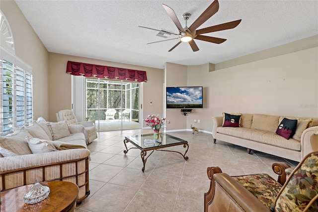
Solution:
M 13 0 L 1 0 L 14 39 L 15 55 L 33 69 L 33 117 L 49 117 L 48 51 Z

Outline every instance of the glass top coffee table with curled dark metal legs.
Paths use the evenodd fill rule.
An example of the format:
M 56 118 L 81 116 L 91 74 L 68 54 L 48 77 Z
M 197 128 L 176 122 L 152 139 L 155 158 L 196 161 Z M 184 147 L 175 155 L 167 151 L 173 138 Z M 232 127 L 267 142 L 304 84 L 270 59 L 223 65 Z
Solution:
M 126 143 L 132 143 L 136 147 L 127 148 Z M 154 139 L 154 134 L 145 134 L 145 135 L 129 135 L 125 136 L 124 144 L 126 147 L 126 150 L 124 150 L 124 153 L 126 154 L 130 149 L 140 149 L 140 156 L 143 160 L 144 167 L 142 168 L 143 172 L 145 171 L 145 164 L 147 162 L 148 157 L 155 151 L 166 151 L 166 152 L 176 152 L 183 156 L 184 160 L 188 160 L 188 156 L 185 156 L 185 154 L 188 152 L 189 144 L 188 141 L 182 140 L 180 138 L 174 137 L 172 135 L 166 134 L 165 132 L 159 133 L 159 139 Z M 171 151 L 161 148 L 166 148 L 170 146 L 177 146 L 177 145 L 183 145 L 184 148 L 187 148 L 185 150 L 185 153 L 182 154 L 181 152 L 177 151 Z M 152 151 L 147 156 L 147 151 Z M 147 157 L 146 157 L 147 156 Z

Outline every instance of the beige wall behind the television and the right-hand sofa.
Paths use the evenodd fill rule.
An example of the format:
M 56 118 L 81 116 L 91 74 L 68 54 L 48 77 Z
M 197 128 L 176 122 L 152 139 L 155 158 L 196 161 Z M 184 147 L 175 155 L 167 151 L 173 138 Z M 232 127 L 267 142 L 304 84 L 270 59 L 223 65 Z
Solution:
M 182 122 L 167 129 L 190 129 L 192 124 L 211 132 L 211 117 L 222 112 L 318 117 L 317 58 L 318 47 L 314 47 L 212 72 L 207 65 L 188 66 L 186 85 L 182 78 L 181 86 L 203 86 L 204 108 L 193 109 L 186 120 L 167 109 L 168 119 Z M 175 67 L 169 64 L 166 72 L 175 72 Z M 167 86 L 180 86 L 179 75 L 167 76 Z

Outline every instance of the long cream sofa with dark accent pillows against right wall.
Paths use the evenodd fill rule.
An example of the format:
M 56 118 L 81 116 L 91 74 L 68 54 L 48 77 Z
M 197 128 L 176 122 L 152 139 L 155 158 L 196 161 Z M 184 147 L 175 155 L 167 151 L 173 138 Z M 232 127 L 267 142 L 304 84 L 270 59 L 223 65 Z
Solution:
M 297 119 L 295 135 L 288 140 L 276 129 L 284 118 Z M 212 117 L 213 138 L 279 157 L 301 161 L 318 150 L 318 118 L 297 118 L 265 114 L 242 114 L 240 127 L 223 127 L 223 116 Z

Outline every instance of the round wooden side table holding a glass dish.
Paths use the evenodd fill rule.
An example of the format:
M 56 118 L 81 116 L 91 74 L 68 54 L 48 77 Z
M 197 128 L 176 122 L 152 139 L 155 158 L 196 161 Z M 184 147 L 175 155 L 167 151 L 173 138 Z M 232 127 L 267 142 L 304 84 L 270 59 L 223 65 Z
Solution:
M 49 196 L 36 204 L 24 203 L 24 195 L 33 184 L 1 192 L 1 212 L 74 212 L 79 195 L 79 187 L 70 182 L 41 182 L 50 188 Z

